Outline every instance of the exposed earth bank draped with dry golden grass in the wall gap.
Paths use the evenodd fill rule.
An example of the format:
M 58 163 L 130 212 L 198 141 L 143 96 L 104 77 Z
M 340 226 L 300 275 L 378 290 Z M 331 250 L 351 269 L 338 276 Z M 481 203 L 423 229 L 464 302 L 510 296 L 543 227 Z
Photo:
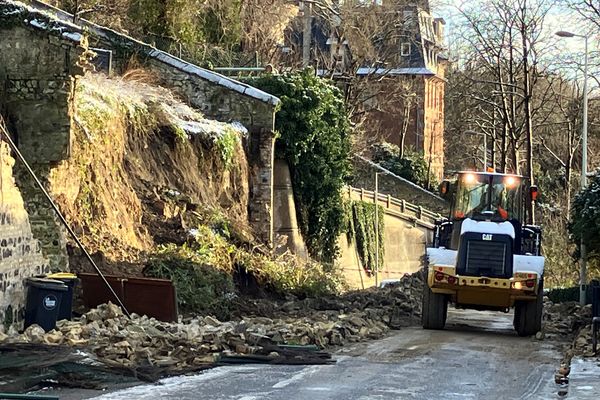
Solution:
M 92 73 L 78 79 L 73 119 L 71 157 L 51 169 L 48 188 L 84 245 L 119 266 L 113 273 L 133 273 L 120 264 L 197 228 L 182 222 L 186 211 L 219 210 L 247 226 L 239 125 L 207 120 L 165 88 Z

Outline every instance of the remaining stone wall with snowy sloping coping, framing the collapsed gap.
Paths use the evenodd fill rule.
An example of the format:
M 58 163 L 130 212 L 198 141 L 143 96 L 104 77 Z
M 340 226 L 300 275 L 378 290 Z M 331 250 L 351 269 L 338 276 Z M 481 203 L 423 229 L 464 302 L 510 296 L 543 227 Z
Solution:
M 273 127 L 278 100 L 125 35 L 83 20 L 79 21 L 82 25 L 74 25 L 72 16 L 49 11 L 41 12 L 16 1 L 0 4 L 0 113 L 42 182 L 47 187 L 56 186 L 50 174 L 71 157 L 77 128 L 72 119 L 74 91 L 84 66 L 90 65 L 89 39 L 89 47 L 113 52 L 119 73 L 125 72 L 132 57 L 137 57 L 162 84 L 207 117 L 239 121 L 248 128 L 245 150 L 250 162 L 246 178 L 250 198 L 241 206 L 247 209 L 255 237 L 270 243 Z M 17 183 L 26 200 L 34 235 L 41 241 L 52 268 L 65 270 L 65 232 L 22 172 L 16 171 Z

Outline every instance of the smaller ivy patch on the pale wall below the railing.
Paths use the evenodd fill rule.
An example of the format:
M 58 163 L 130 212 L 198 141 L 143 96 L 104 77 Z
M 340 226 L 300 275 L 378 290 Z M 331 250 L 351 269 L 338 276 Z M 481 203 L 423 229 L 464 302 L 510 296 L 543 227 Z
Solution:
M 379 253 L 379 270 L 383 266 L 384 252 L 384 211 L 377 206 L 378 229 L 375 229 L 375 204 L 365 201 L 351 201 L 347 203 L 349 213 L 347 219 L 347 234 L 349 242 L 355 241 L 358 256 L 363 268 L 372 273 L 377 266 L 376 251 Z M 379 247 L 377 247 L 376 232 L 379 233 Z

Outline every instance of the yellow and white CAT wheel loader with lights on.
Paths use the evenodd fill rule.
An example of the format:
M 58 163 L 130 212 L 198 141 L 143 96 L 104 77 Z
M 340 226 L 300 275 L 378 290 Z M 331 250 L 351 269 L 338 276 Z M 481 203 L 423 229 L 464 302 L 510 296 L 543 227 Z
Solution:
M 424 269 L 422 324 L 443 329 L 448 304 L 509 312 L 520 336 L 541 328 L 544 257 L 542 232 L 526 224 L 526 204 L 537 188 L 519 175 L 459 172 L 442 182 L 450 215 L 435 224 Z

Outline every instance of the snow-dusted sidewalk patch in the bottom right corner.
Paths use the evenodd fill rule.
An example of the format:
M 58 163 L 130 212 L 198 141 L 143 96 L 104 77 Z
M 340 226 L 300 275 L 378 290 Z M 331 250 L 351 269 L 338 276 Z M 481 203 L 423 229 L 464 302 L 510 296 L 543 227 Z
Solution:
M 569 374 L 568 398 L 577 400 L 600 398 L 600 358 L 573 358 Z

